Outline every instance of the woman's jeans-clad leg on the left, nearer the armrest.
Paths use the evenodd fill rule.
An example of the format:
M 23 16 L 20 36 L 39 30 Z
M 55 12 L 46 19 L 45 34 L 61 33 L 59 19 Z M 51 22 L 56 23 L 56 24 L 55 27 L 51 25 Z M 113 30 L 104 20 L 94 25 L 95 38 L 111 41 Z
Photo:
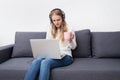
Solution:
M 35 80 L 36 79 L 36 77 L 39 73 L 41 61 L 43 59 L 44 58 L 39 57 L 39 58 L 32 61 L 31 65 L 28 69 L 28 72 L 26 73 L 24 80 Z

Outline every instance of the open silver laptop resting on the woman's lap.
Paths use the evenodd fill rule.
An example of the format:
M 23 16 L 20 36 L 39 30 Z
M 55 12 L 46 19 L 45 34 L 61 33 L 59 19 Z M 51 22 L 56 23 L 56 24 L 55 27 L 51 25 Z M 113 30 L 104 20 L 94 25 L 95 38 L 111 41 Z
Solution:
M 59 41 L 54 39 L 30 39 L 33 57 L 61 59 Z

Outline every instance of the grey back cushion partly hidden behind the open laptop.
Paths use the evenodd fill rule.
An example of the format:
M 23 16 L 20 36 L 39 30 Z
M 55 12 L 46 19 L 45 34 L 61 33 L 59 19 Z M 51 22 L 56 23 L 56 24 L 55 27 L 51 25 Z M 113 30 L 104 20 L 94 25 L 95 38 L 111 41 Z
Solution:
M 12 57 L 32 57 L 30 39 L 43 39 L 45 32 L 16 32 Z

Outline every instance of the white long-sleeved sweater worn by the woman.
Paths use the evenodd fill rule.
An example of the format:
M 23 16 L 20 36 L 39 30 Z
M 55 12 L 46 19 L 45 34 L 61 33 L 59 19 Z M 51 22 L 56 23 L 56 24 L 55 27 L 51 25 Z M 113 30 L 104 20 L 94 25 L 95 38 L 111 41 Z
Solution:
M 72 31 L 71 29 L 68 29 L 68 31 Z M 59 39 L 59 30 L 57 32 L 58 34 L 56 35 L 55 39 Z M 61 41 L 59 41 L 59 45 L 60 45 L 60 52 L 61 52 L 61 56 L 64 57 L 65 55 L 69 55 L 72 57 L 72 51 L 71 49 L 75 49 L 77 44 L 76 44 L 76 36 L 74 31 L 72 31 L 72 33 L 74 34 L 74 38 L 71 42 L 69 41 L 64 41 L 64 43 L 61 43 Z M 54 39 L 51 35 L 51 30 L 47 31 L 47 35 L 46 35 L 46 39 Z

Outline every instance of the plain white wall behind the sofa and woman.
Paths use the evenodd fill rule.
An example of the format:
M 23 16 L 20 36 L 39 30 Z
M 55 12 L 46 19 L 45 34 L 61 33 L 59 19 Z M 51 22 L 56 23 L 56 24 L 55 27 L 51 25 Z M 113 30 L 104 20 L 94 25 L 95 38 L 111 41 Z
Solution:
M 0 0 L 0 46 L 14 43 L 16 31 L 46 31 L 55 7 L 74 30 L 120 31 L 120 0 Z

